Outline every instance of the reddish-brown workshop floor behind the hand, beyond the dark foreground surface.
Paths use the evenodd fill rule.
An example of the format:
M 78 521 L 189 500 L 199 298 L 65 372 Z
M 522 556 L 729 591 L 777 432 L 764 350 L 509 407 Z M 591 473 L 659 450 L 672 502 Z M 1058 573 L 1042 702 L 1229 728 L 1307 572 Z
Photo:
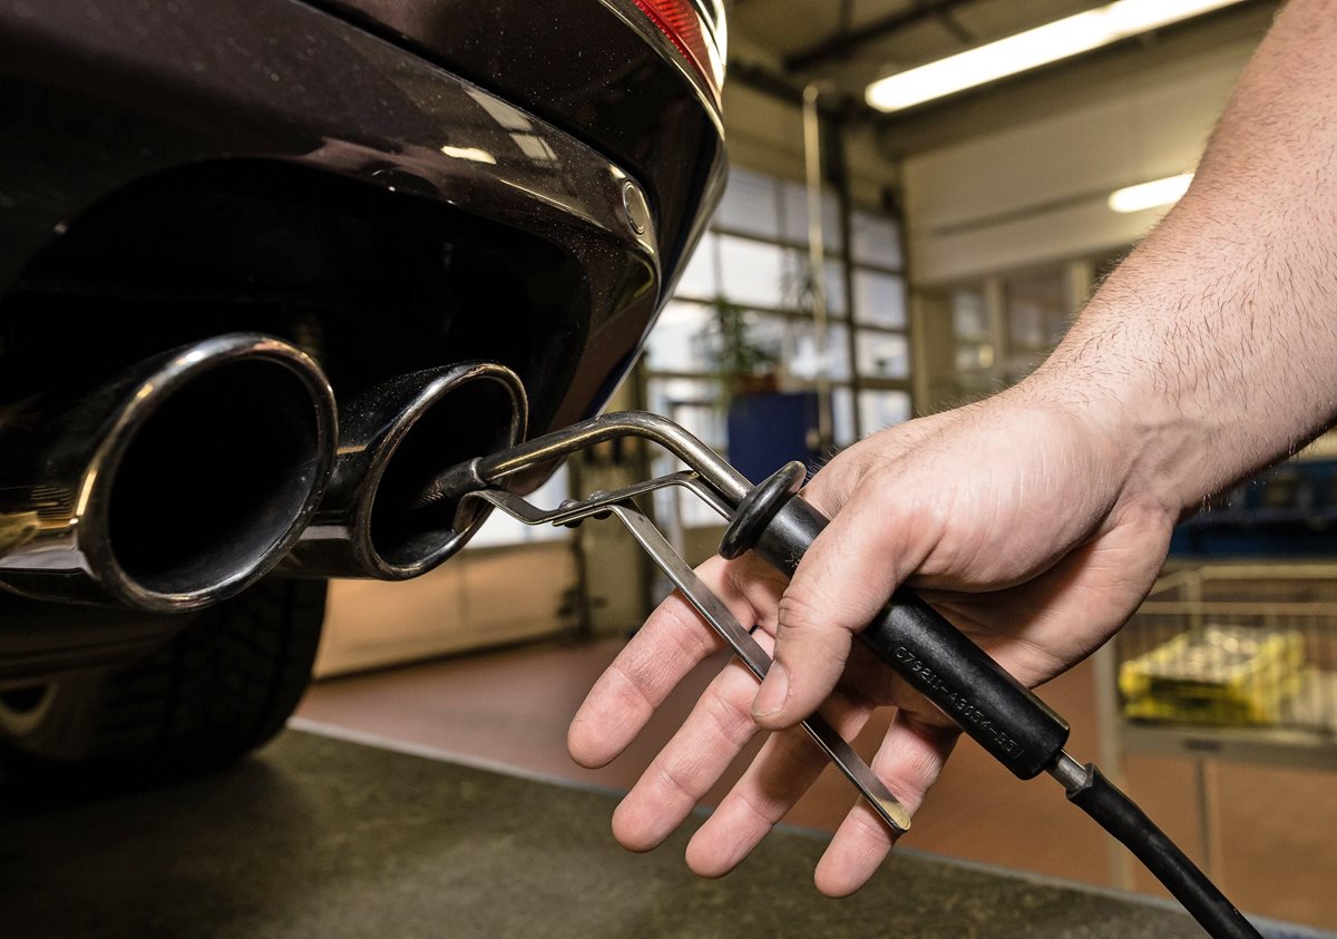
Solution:
M 694 674 L 627 753 L 604 769 L 587 770 L 566 753 L 566 725 L 619 646 L 619 641 L 554 642 L 328 680 L 308 693 L 297 725 L 624 791 L 718 662 Z M 1070 752 L 1095 758 L 1090 669 L 1051 682 L 1043 697 L 1072 724 Z M 874 721 L 856 746 L 870 756 L 884 729 L 885 718 Z M 1134 799 L 1201 863 L 1191 765 L 1130 754 L 1126 772 Z M 1250 912 L 1337 928 L 1337 778 L 1221 764 L 1214 781 L 1218 804 L 1233 813 L 1219 825 L 1223 869 L 1214 873 L 1230 898 Z M 717 788 L 707 803 L 723 791 Z M 828 769 L 786 821 L 829 832 L 852 803 L 853 791 Z M 606 827 L 607 817 L 599 824 Z M 1088 884 L 1111 883 L 1107 839 L 1067 804 L 1058 784 L 1020 782 L 969 741 L 957 748 L 901 844 Z M 1136 873 L 1139 890 L 1165 895 L 1148 875 Z

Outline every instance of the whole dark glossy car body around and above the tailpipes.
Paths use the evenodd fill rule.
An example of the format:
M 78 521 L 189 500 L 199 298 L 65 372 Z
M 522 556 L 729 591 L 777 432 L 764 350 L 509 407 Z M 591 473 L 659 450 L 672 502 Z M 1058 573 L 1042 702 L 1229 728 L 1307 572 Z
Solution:
M 247 330 L 341 400 L 487 360 L 531 433 L 598 412 L 722 187 L 722 29 L 706 0 L 0 0 L 0 409 Z M 0 692 L 156 629 L 4 606 Z

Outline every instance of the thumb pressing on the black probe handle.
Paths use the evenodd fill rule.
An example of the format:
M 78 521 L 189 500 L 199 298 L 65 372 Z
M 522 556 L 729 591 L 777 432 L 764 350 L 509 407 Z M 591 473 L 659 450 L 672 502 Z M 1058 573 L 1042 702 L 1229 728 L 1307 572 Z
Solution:
M 854 633 L 921 562 L 937 526 L 893 507 L 884 474 L 865 476 L 813 540 L 779 599 L 774 663 L 753 700 L 753 720 L 778 730 L 812 714 L 836 689 Z M 932 515 L 931 512 L 925 515 Z M 906 531 L 916 532 L 916 547 Z

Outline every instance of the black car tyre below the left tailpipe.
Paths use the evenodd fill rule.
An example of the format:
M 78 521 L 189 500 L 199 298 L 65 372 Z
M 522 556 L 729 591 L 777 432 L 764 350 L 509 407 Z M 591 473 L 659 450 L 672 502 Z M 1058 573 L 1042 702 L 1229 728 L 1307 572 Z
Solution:
M 324 581 L 263 581 L 130 665 L 0 694 L 0 760 L 15 777 L 107 784 L 237 761 L 297 708 L 325 593 Z

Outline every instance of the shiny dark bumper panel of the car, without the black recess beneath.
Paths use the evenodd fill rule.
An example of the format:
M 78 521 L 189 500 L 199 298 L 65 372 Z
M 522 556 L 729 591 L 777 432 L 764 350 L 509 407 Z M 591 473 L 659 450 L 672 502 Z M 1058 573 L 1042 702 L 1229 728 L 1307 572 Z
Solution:
M 119 193 L 182 167 L 265 163 L 352 181 L 390 213 L 429 205 L 524 233 L 548 268 L 578 272 L 527 285 L 537 334 L 523 361 L 493 340 L 525 380 L 535 432 L 596 411 L 654 317 L 666 177 L 651 189 L 588 139 L 338 16 L 291 0 L 0 0 L 0 290 L 32 288 L 33 259 Z M 636 194 L 654 209 L 643 231 Z M 678 198 L 674 211 L 699 207 Z M 681 251 L 691 226 L 675 225 Z

